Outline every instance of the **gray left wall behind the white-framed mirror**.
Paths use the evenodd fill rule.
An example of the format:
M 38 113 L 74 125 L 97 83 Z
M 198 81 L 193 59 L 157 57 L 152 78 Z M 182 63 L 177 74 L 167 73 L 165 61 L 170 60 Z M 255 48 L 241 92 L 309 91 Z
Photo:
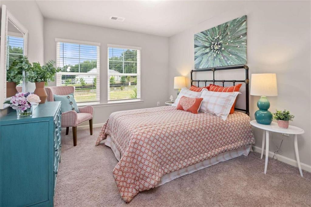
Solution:
M 44 62 L 43 16 L 35 1 L 0 1 L 6 5 L 13 16 L 28 30 L 27 56 L 30 62 Z M 29 91 L 35 90 L 33 83 L 27 85 Z M 9 108 L 0 110 L 0 116 L 7 114 Z

